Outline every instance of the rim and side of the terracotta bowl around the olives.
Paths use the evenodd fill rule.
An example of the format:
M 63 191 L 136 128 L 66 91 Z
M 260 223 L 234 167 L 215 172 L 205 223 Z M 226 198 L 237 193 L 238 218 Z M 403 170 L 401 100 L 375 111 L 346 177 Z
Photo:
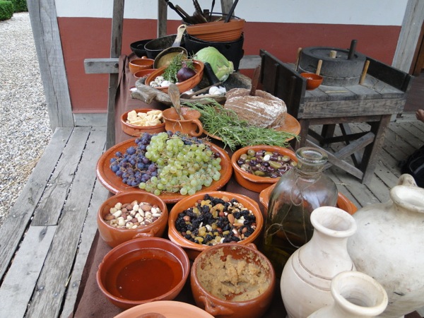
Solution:
M 235 153 L 233 153 L 231 156 L 231 165 L 234 170 L 235 180 L 242 187 L 245 187 L 246 189 L 249 189 L 254 192 L 261 192 L 262 190 L 269 187 L 271 184 L 275 184 L 276 182 L 278 182 L 280 178 L 259 177 L 257 175 L 253 175 L 252 173 L 245 172 L 244 170 L 242 170 L 242 168 L 237 165 L 237 160 L 240 158 L 240 155 L 242 155 L 243 153 L 247 153 L 249 149 L 253 149 L 254 151 L 277 151 L 278 153 L 281 153 L 281 155 L 288 155 L 290 159 L 294 160 L 296 163 L 298 162 L 298 158 L 296 158 L 294 151 L 290 151 L 290 149 L 283 147 L 256 145 L 243 147 L 235 151 Z

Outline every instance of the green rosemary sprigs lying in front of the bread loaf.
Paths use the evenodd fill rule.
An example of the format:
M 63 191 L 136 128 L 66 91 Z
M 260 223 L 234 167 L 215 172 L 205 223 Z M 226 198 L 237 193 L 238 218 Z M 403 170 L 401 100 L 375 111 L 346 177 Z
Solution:
M 287 147 L 288 139 L 296 138 L 298 135 L 277 131 L 275 129 L 252 126 L 248 122 L 239 119 L 232 110 L 225 109 L 216 100 L 208 100 L 208 104 L 198 102 L 186 102 L 184 105 L 192 107 L 201 113 L 200 121 L 209 134 L 220 137 L 225 146 L 232 151 L 237 146 L 269 145 Z

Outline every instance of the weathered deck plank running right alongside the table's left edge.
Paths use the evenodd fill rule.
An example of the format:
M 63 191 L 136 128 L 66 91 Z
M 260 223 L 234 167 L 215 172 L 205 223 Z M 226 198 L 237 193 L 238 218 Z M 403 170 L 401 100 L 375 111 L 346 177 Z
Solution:
M 74 310 L 78 290 L 81 286 L 81 276 L 83 275 L 84 266 L 88 253 L 90 252 L 95 234 L 98 230 L 97 212 L 100 205 L 110 196 L 110 192 L 98 182 L 95 182 L 93 196 L 90 201 L 90 207 L 86 221 L 84 222 L 83 232 L 81 234 L 81 242 L 78 246 L 78 254 L 76 255 L 75 263 L 71 273 L 71 279 L 66 288 L 66 299 L 61 317 L 69 317 Z

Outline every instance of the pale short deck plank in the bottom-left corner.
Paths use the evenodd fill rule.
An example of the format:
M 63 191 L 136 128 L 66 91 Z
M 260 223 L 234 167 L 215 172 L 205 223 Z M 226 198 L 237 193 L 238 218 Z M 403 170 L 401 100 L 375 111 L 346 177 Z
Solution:
M 55 226 L 30 226 L 0 288 L 1 315 L 25 316 L 35 283 L 53 240 Z M 37 246 L 37 248 L 34 248 Z

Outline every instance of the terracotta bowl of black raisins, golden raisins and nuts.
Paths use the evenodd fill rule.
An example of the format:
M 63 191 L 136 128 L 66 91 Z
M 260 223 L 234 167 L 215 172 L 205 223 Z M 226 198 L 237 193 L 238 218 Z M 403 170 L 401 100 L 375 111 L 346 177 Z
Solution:
M 168 237 L 194 260 L 213 245 L 257 242 L 264 219 L 259 205 L 242 194 L 198 192 L 170 211 Z

